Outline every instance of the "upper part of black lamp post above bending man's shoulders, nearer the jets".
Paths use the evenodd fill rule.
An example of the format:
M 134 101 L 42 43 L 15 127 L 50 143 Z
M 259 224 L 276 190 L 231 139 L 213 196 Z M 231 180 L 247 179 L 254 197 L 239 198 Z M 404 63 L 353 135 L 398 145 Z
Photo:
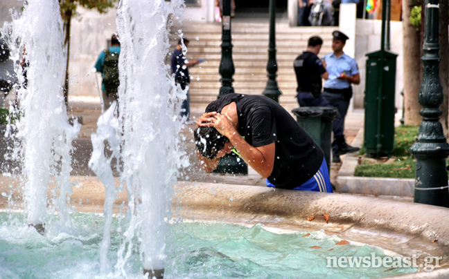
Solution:
M 229 93 L 234 93 L 232 87 L 232 76 L 236 73 L 234 68 L 234 61 L 232 61 L 232 44 L 231 44 L 231 1 L 223 0 L 222 10 L 222 58 L 220 61 L 220 75 L 222 78 L 222 86 L 218 98 L 223 97 Z

